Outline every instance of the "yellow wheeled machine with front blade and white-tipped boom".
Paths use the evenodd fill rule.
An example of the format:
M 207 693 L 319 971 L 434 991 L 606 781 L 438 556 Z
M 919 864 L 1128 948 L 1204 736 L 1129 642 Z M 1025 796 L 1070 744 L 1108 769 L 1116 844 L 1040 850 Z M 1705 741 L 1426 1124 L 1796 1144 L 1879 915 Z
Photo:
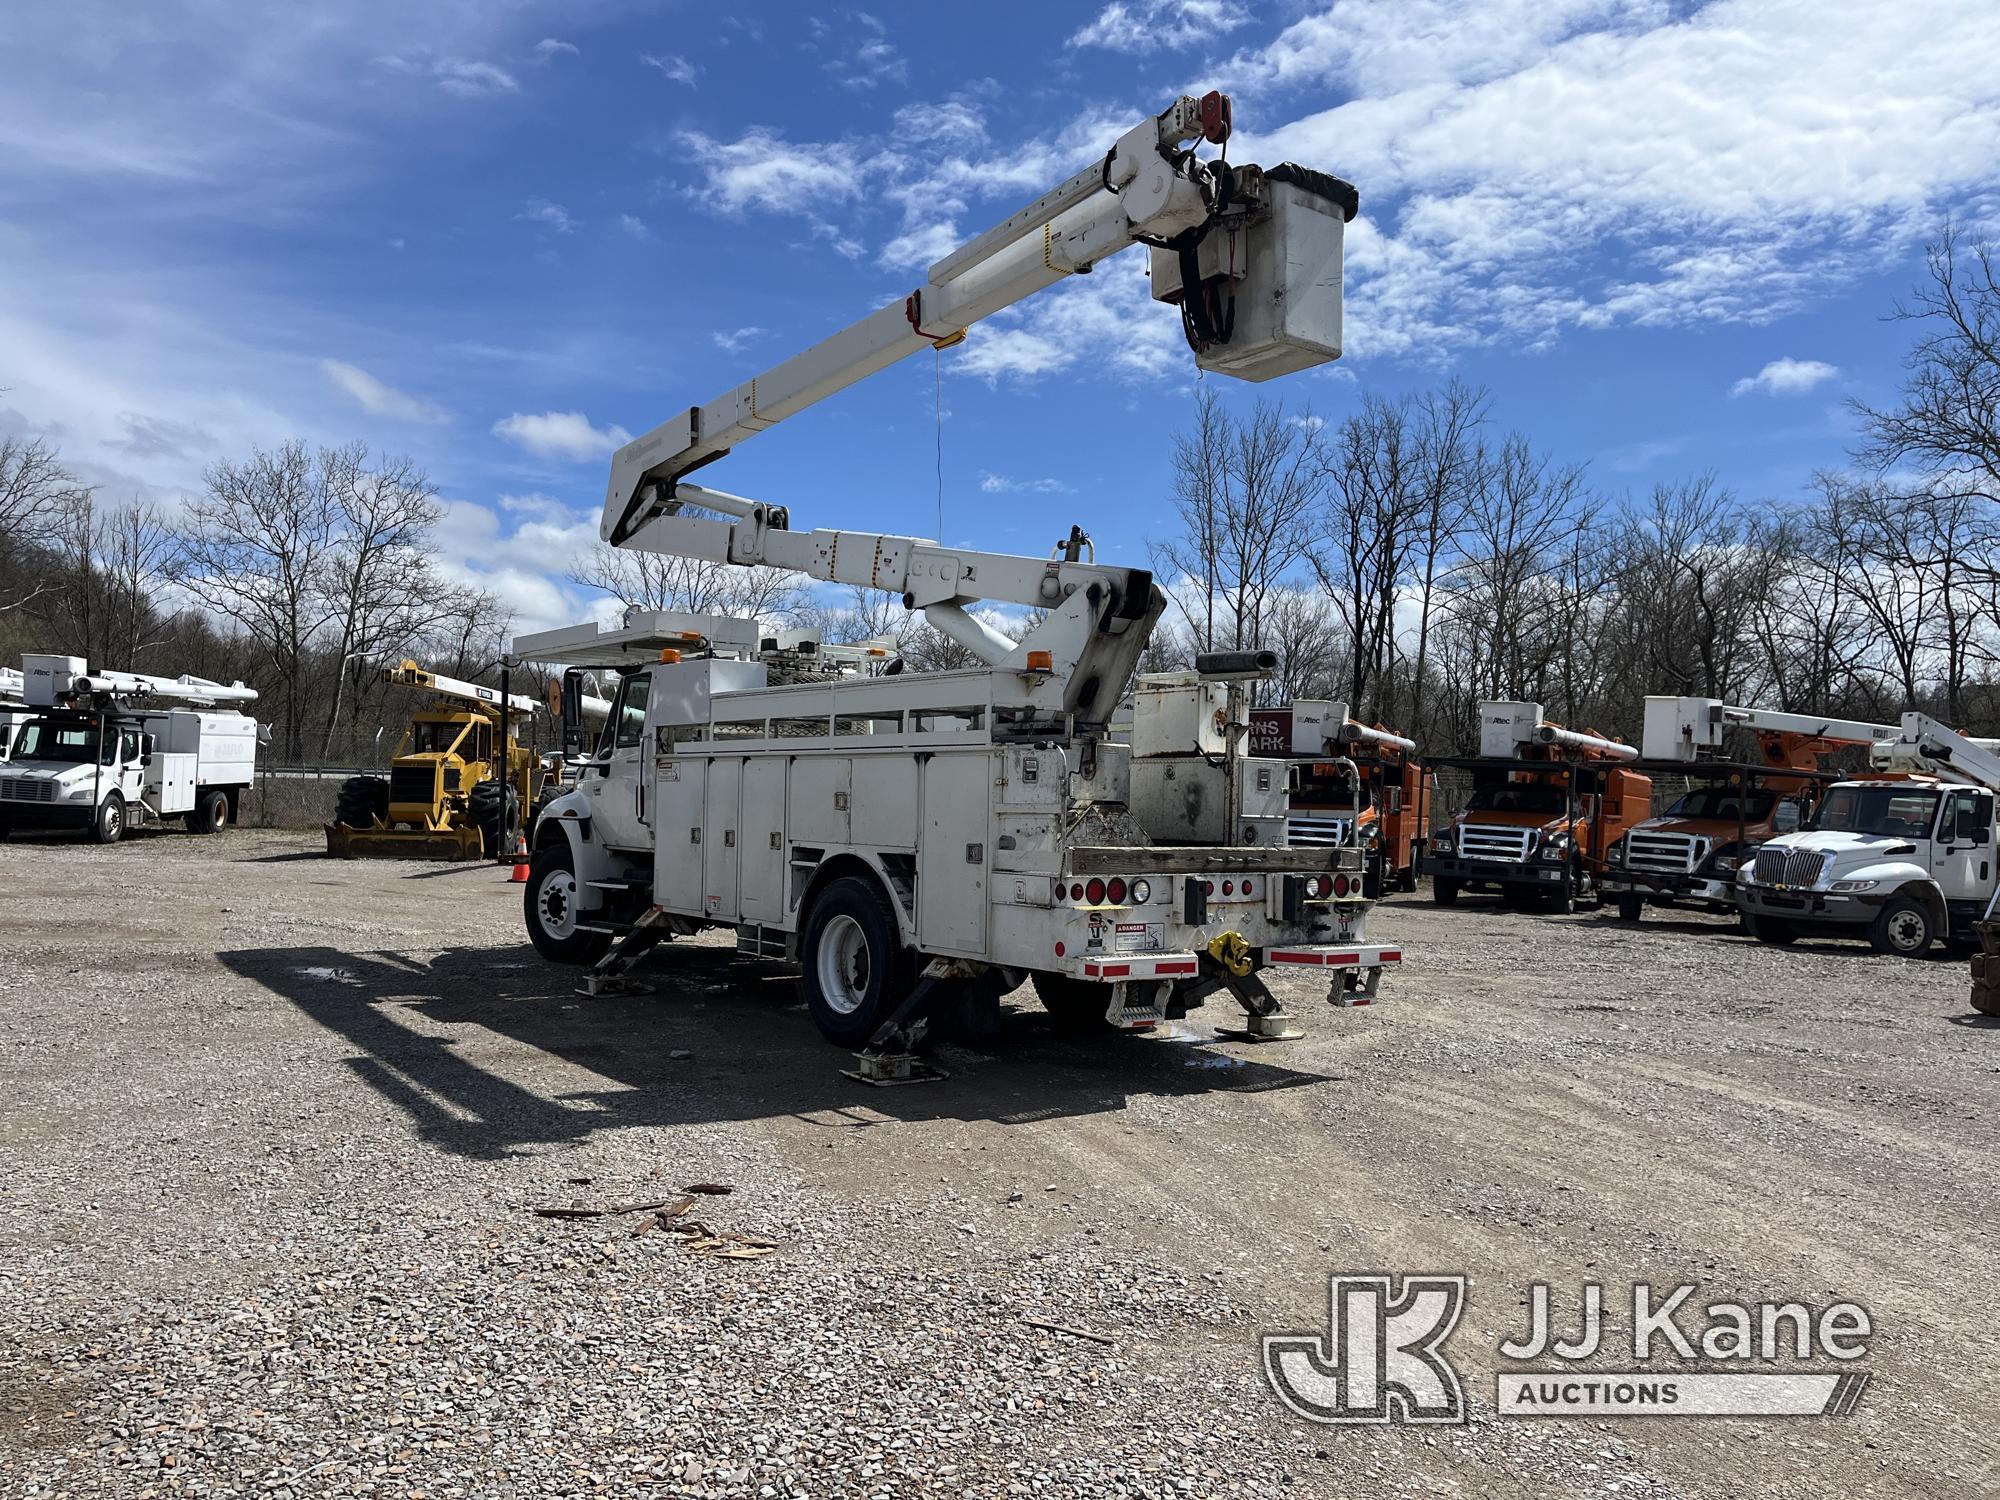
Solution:
M 382 680 L 432 694 L 410 714 L 388 776 L 340 786 L 326 852 L 342 858 L 480 860 L 514 848 L 536 802 L 540 758 L 522 742 L 536 700 L 438 676 L 416 662 Z

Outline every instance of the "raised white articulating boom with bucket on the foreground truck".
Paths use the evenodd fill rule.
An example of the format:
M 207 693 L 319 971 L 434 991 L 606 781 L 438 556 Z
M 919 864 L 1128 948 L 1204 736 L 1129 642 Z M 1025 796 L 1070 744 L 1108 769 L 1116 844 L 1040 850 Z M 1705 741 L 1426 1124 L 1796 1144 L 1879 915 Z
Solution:
M 686 484 L 696 468 L 794 412 L 1132 244 L 1152 248 L 1154 298 L 1180 306 L 1196 362 L 1266 380 L 1340 356 L 1340 256 L 1354 188 L 1298 166 L 1204 162 L 1230 136 L 1222 94 L 1180 98 L 1052 192 L 930 268 L 924 286 L 804 354 L 688 408 L 612 456 L 602 534 L 614 546 L 802 572 L 902 594 L 1026 704 L 1104 722 L 1164 596 L 1142 568 L 1094 562 L 1080 530 L 1048 558 L 878 532 L 792 532 L 784 506 Z M 710 512 L 708 516 L 686 510 Z M 1086 556 L 1088 554 L 1088 556 Z M 1046 610 L 1010 640 L 968 606 Z

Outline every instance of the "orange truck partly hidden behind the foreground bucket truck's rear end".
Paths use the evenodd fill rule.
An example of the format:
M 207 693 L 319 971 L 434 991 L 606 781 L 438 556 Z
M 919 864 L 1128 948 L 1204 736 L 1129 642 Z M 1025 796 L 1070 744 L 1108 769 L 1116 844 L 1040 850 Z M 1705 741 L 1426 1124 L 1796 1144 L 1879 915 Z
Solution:
M 1250 710 L 1250 754 L 1292 762 L 1286 844 L 1362 844 L 1370 898 L 1416 890 L 1436 778 L 1416 742 L 1348 718 L 1348 706 L 1300 700 Z

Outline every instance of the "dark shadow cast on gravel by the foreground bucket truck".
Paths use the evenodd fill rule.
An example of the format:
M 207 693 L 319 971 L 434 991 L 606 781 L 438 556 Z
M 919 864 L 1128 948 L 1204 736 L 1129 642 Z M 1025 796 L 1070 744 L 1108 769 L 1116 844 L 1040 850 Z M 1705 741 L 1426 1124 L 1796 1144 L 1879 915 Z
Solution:
M 394 952 L 252 948 L 218 954 L 236 974 L 354 1044 L 348 1066 L 402 1108 L 424 1140 L 514 1156 L 600 1130 L 798 1116 L 860 1128 L 890 1120 L 1022 1124 L 1122 1110 L 1134 1096 L 1268 1092 L 1330 1082 L 1186 1040 L 1072 1036 L 1040 1010 L 1004 1010 L 1000 1034 L 946 1046 L 944 1082 L 866 1088 L 840 1074 L 790 974 L 726 948 L 678 948 L 640 968 L 642 996 L 586 998 L 576 970 L 534 948 Z M 1218 1012 L 1220 1014 L 1220 1012 Z M 440 1034 L 448 1032 L 448 1034 Z M 692 1058 L 676 1060 L 674 1050 Z M 542 1090 L 548 1058 L 592 1074 Z

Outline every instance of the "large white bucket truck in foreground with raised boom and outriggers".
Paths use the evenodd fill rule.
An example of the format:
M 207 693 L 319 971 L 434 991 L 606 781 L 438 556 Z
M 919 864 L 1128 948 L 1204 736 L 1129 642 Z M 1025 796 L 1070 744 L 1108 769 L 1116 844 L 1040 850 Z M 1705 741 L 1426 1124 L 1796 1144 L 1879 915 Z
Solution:
M 608 542 L 900 594 L 980 666 L 782 682 L 742 620 L 738 640 L 718 628 L 628 670 L 596 776 L 538 824 L 524 902 L 544 954 L 596 962 L 602 986 L 662 936 L 734 928 L 742 950 L 798 964 L 820 1030 L 868 1044 L 864 1074 L 910 1066 L 896 1048 L 938 984 L 998 1000 L 1032 978 L 1050 1010 L 1126 1028 L 1228 990 L 1260 1038 L 1298 1034 L 1264 966 L 1310 968 L 1338 1002 L 1376 992 L 1400 950 L 1366 940 L 1360 848 L 1278 842 L 1284 764 L 1248 760 L 1248 726 L 1216 720 L 1260 654 L 1202 658 L 1142 694 L 1134 744 L 1116 744 L 1110 716 L 1166 600 L 1152 574 L 1096 562 L 1082 530 L 1050 556 L 794 532 L 784 506 L 688 482 L 1130 244 L 1154 248 L 1154 296 L 1180 304 L 1202 368 L 1262 380 L 1336 358 L 1354 190 L 1186 148 L 1220 144 L 1228 120 L 1220 94 L 1176 100 L 908 298 L 614 454 Z M 970 612 L 982 602 L 1040 618 L 1016 640 Z M 1146 826 L 1142 788 L 1172 828 Z

